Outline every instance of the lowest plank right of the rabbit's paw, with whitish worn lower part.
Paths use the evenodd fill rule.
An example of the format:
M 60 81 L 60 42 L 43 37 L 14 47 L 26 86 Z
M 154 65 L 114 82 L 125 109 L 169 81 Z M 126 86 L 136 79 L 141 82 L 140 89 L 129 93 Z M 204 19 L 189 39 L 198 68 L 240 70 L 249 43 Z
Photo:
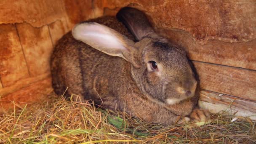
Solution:
M 220 93 L 200 91 L 199 105 L 213 113 L 225 111 L 229 115 L 250 116 L 251 119 L 256 120 L 256 101 L 246 101 Z

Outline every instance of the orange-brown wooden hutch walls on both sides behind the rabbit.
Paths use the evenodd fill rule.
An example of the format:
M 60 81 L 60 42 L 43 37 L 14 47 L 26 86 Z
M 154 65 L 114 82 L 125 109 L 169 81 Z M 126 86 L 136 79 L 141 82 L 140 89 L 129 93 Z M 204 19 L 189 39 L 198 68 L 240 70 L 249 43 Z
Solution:
M 37 101 L 51 91 L 53 45 L 74 24 L 115 15 L 127 5 L 144 11 L 157 32 L 187 50 L 200 75 L 202 107 L 256 115 L 255 0 L 2 0 L 0 96 L 5 107 L 13 100 Z

